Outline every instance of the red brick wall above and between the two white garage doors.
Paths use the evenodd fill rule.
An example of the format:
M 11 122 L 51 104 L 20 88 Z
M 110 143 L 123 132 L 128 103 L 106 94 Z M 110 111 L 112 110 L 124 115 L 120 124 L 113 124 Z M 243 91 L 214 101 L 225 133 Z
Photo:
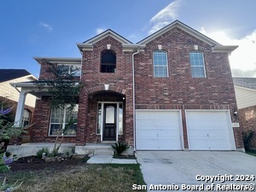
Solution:
M 154 78 L 152 55 L 158 49 L 158 44 L 167 51 L 168 78 Z M 204 55 L 207 78 L 191 77 L 189 51 L 194 50 L 194 45 L 198 45 Z M 179 28 L 174 28 L 146 44 L 145 51 L 135 58 L 136 108 L 230 111 L 237 108 L 228 54 L 213 53 L 210 45 Z M 232 120 L 238 122 L 238 119 Z M 234 129 L 234 132 L 236 148 L 243 148 L 241 129 Z M 187 148 L 184 117 L 183 137 Z

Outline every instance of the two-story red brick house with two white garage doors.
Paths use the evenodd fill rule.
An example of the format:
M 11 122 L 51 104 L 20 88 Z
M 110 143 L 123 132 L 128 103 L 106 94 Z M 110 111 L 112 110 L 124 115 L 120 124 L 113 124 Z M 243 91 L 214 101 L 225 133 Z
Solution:
M 49 63 L 79 68 L 82 90 L 64 143 L 76 151 L 90 143 L 125 142 L 136 150 L 244 150 L 229 55 L 224 46 L 176 20 L 132 44 L 107 30 L 77 44 L 81 58 L 36 57 L 40 81 L 53 78 Z M 47 91 L 36 102 L 33 143 L 54 143 L 63 118 L 49 108 Z M 22 104 L 20 104 L 22 106 Z M 20 113 L 16 113 L 19 119 Z M 236 124 L 233 124 L 236 123 Z

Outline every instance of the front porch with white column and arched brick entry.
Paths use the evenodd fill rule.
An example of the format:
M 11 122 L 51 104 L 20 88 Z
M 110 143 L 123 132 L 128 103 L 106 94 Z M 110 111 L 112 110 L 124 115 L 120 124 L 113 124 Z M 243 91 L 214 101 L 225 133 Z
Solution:
M 15 117 L 17 124 L 22 116 L 26 93 L 38 96 L 38 100 L 33 116 L 31 143 L 21 144 L 20 148 L 9 146 L 9 149 L 17 151 L 18 155 L 23 155 L 26 154 L 26 149 L 23 148 L 28 148 L 28 154 L 36 154 L 38 148 L 53 148 L 57 136 L 55 129 L 59 128 L 61 123 L 62 126 L 65 125 L 66 120 L 59 118 L 59 113 L 56 114 L 50 107 L 50 95 L 47 88 L 38 90 L 36 84 L 32 83 L 15 84 L 15 86 L 21 88 L 20 102 Z M 108 145 L 108 143 L 123 142 L 133 148 L 131 91 L 127 92 L 125 89 L 110 84 L 83 89 L 75 109 L 74 113 L 77 115 L 75 119 L 78 121 L 74 124 L 73 131 L 67 131 L 67 134 L 64 135 L 63 143 L 66 144 L 62 147 L 64 148 L 65 145 L 69 147 L 64 148 L 63 152 L 66 150 L 77 154 L 97 153 L 97 150 L 91 150 L 91 147 L 88 147 L 88 143 L 97 143 L 101 144 L 102 148 L 104 148 L 103 146 L 110 148 L 111 144 Z M 67 110 L 63 109 L 64 117 L 67 117 L 68 114 Z M 89 144 L 89 146 L 91 145 Z

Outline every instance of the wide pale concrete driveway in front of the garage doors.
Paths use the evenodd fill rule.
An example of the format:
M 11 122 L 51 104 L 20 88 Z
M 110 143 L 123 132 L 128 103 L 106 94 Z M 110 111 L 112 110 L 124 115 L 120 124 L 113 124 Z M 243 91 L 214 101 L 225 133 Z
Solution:
M 137 161 L 148 191 L 255 189 L 256 157 L 241 152 L 137 151 Z

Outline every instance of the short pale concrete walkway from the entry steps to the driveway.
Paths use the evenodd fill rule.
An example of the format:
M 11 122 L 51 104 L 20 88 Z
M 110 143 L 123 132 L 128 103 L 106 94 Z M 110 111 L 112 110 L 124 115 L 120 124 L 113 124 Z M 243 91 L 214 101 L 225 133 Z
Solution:
M 137 160 L 128 159 L 114 159 L 112 155 L 108 154 L 96 154 L 93 155 L 90 160 L 87 160 L 88 164 L 137 164 Z

